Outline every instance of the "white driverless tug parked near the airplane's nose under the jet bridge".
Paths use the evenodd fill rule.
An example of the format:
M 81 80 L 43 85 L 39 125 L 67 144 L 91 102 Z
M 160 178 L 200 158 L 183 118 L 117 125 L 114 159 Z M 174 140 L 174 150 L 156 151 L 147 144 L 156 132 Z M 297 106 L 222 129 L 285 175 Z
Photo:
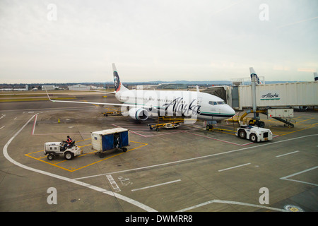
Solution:
M 242 139 L 247 139 L 252 142 L 271 141 L 273 133 L 270 129 L 259 128 L 256 126 L 240 126 L 237 128 L 235 135 Z

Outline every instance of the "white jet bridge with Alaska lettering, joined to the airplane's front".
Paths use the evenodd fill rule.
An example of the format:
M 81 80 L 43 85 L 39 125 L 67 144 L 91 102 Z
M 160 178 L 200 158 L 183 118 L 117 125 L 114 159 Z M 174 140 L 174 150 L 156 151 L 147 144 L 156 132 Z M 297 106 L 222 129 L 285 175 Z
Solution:
M 293 107 L 318 106 L 318 80 L 298 83 L 261 84 L 253 68 L 250 68 L 251 84 L 211 87 L 203 92 L 223 98 L 233 109 L 249 109 L 254 114 L 254 123 L 259 122 L 259 113 L 282 121 L 289 126 Z M 316 75 L 314 75 L 316 76 Z M 281 114 L 283 112 L 284 114 Z M 259 125 L 264 126 L 264 123 Z

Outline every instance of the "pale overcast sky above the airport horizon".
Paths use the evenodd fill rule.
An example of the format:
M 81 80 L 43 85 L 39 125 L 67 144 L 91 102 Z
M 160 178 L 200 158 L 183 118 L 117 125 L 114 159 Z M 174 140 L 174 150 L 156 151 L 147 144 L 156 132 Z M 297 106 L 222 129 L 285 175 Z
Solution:
M 317 0 L 0 0 L 0 83 L 314 81 Z

